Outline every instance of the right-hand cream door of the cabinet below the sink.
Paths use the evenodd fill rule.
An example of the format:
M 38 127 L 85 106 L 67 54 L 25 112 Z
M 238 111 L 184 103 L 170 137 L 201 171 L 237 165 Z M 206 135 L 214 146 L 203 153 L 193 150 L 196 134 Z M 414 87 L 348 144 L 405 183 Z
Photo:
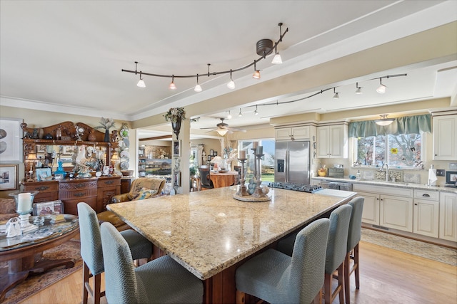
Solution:
M 413 199 L 399 196 L 380 196 L 380 225 L 413 232 Z

